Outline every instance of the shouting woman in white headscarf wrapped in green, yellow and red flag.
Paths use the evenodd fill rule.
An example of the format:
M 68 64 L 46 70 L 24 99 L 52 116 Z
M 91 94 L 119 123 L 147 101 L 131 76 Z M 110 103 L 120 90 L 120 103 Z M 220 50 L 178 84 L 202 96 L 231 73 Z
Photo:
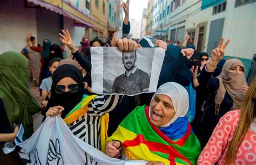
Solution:
M 186 118 L 188 93 L 178 83 L 161 85 L 150 106 L 138 106 L 107 138 L 106 154 L 124 160 L 196 164 L 200 143 Z

